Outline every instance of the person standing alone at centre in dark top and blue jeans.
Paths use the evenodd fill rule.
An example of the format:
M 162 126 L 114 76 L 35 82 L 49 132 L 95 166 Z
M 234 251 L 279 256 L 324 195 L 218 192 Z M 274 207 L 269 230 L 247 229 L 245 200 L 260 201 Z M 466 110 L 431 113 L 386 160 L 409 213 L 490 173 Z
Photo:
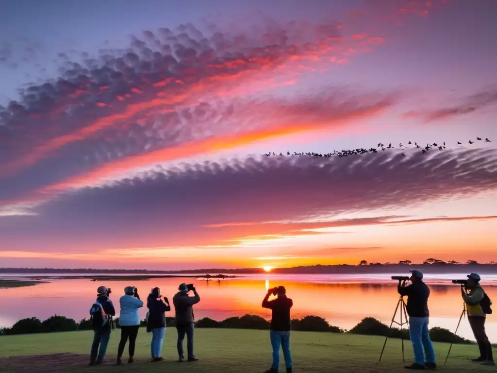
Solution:
M 277 295 L 276 299 L 269 300 L 269 296 Z M 273 364 L 266 373 L 276 373 L 279 368 L 279 349 L 283 349 L 286 372 L 292 372 L 292 356 L 290 354 L 290 329 L 291 318 L 290 308 L 293 306 L 292 299 L 286 296 L 284 286 L 278 286 L 267 290 L 267 294 L 262 300 L 262 307 L 269 308 L 272 312 L 269 336 L 273 348 Z

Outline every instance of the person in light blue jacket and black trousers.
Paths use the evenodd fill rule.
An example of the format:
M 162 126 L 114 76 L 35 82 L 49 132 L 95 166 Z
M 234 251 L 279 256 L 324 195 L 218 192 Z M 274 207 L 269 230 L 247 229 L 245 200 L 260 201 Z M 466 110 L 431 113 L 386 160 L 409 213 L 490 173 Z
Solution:
M 140 316 L 138 308 L 143 307 L 143 300 L 138 295 L 138 289 L 134 286 L 126 286 L 124 295 L 119 299 L 121 312 L 119 313 L 119 326 L 121 327 L 121 340 L 117 349 L 117 365 L 121 364 L 124 347 L 129 339 L 129 360 L 128 363 L 134 362 L 136 337 L 140 328 Z

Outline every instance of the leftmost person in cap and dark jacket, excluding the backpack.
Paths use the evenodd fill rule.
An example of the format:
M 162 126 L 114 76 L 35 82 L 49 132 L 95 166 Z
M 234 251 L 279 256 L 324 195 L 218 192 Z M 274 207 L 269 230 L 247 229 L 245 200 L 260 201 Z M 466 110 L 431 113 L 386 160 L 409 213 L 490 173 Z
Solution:
M 112 301 L 107 296 L 108 289 L 105 286 L 99 286 L 97 288 L 97 298 L 95 303 L 99 303 L 102 306 L 105 317 L 107 317 L 107 322 L 103 325 L 94 327 L 93 329 L 93 343 L 91 344 L 90 352 L 90 364 L 89 365 L 100 365 L 103 363 L 105 358 L 105 353 L 107 352 L 107 346 L 110 340 L 110 317 L 115 316 L 116 310 Z M 98 347 L 100 346 L 100 351 Z

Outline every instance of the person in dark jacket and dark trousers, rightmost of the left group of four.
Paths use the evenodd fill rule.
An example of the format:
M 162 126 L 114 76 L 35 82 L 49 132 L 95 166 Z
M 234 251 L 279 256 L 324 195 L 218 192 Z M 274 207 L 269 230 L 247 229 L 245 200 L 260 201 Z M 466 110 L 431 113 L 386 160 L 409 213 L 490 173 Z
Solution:
M 193 323 L 195 317 L 193 314 L 193 305 L 200 302 L 200 296 L 193 284 L 181 283 L 178 287 L 178 292 L 172 297 L 174 311 L 176 313 L 176 330 L 178 331 L 178 362 L 184 361 L 183 340 L 186 334 L 186 349 L 188 352 L 187 360 L 195 362 L 198 359 L 193 354 Z M 193 296 L 189 296 L 188 292 L 193 291 Z

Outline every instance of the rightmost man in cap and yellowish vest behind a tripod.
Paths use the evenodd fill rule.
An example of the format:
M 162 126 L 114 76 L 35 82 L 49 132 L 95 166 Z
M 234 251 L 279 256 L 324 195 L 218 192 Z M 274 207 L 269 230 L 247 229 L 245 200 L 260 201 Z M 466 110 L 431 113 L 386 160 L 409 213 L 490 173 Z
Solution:
M 480 302 L 485 297 L 485 291 L 480 286 L 481 278 L 476 273 L 469 274 L 467 277 L 468 280 L 466 288 L 469 292 L 466 293 L 464 286 L 461 285 L 461 294 L 464 302 L 466 303 L 468 321 L 471 326 L 471 330 L 473 330 L 473 335 L 475 336 L 478 348 L 480 349 L 480 357 L 472 359 L 472 361 L 482 363 L 484 365 L 495 365 L 492 354 L 492 344 L 490 343 L 489 337 L 487 337 L 487 333 L 485 332 L 485 321 L 487 320 L 487 315 L 480 305 Z

